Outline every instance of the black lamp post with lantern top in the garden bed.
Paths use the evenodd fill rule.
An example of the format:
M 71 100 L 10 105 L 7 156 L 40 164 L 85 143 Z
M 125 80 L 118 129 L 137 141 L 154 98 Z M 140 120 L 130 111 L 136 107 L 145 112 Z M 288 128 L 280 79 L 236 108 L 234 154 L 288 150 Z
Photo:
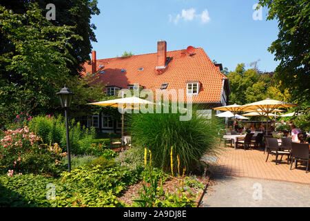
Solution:
M 70 173 L 71 171 L 71 159 L 70 159 L 70 143 L 69 143 L 69 128 L 68 128 L 68 108 L 70 107 L 72 96 L 74 93 L 71 93 L 71 91 L 66 88 L 65 86 L 59 91 L 59 93 L 56 93 L 56 95 L 59 97 L 59 100 L 61 102 L 61 107 L 65 109 L 65 130 L 67 133 L 67 153 L 68 153 L 68 171 Z

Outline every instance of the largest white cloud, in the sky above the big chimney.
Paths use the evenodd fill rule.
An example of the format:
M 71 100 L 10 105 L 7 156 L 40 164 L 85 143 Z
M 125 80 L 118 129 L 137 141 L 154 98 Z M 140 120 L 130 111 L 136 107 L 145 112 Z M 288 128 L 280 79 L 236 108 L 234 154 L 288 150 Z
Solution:
M 187 10 L 183 9 L 181 15 L 178 14 L 175 18 L 173 18 L 172 15 L 169 15 L 169 22 L 173 21 L 177 24 L 180 19 L 183 19 L 184 21 L 193 21 L 194 19 L 198 19 L 202 23 L 207 23 L 211 20 L 207 9 L 205 9 L 201 14 L 196 14 L 195 8 L 189 8 Z

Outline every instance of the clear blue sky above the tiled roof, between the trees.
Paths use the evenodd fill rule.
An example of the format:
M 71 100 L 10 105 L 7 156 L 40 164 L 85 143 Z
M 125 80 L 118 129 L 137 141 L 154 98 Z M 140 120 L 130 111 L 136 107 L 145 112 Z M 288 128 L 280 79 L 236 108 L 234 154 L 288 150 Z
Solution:
M 277 39 L 276 21 L 254 17 L 252 0 L 99 0 L 101 14 L 92 17 L 96 39 L 93 50 L 97 59 L 121 56 L 126 50 L 134 55 L 156 52 L 157 41 L 167 41 L 167 50 L 187 46 L 203 48 L 229 70 L 237 64 L 258 61 L 262 71 L 278 66 L 267 51 Z

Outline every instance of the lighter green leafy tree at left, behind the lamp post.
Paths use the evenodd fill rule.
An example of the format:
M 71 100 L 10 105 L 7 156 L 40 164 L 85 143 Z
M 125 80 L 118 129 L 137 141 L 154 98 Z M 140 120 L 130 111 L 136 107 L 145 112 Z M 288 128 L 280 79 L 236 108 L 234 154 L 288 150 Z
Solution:
M 30 3 L 24 14 L 0 6 L 0 27 L 8 42 L 0 51 L 1 125 L 21 112 L 54 112 L 59 107 L 55 93 L 65 83 L 78 105 L 102 97 L 102 86 L 87 85 L 90 81 L 72 75 L 68 66 L 76 61 L 68 49 L 73 49 L 71 40 L 83 39 L 74 27 L 54 26 L 37 3 Z

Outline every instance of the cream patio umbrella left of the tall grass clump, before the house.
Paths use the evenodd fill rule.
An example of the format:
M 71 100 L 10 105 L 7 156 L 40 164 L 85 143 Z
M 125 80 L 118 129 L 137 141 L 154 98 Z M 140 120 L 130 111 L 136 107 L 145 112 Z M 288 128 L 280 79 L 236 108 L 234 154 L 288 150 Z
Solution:
M 119 98 L 119 99 L 110 99 L 104 102 L 94 102 L 90 103 L 91 105 L 97 105 L 97 106 L 112 106 L 114 108 L 122 108 L 122 146 L 124 144 L 123 136 L 124 136 L 124 113 L 125 109 L 134 109 L 136 108 L 135 104 L 154 104 L 153 102 L 149 102 L 145 99 L 141 99 L 139 97 L 125 97 L 125 98 Z

